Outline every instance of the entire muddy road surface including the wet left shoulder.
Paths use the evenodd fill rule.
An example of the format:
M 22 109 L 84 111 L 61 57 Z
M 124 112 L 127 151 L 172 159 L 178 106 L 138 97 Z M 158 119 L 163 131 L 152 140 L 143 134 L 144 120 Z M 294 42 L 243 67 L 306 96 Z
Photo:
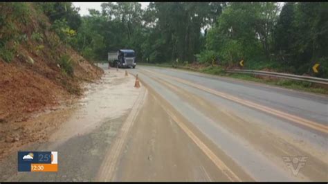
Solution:
M 0 161 L 0 181 L 328 180 L 327 96 L 170 68 L 137 66 L 125 76 L 101 66 L 102 80 L 48 140 L 20 149 L 58 151 L 59 171 L 17 172 L 13 152 Z

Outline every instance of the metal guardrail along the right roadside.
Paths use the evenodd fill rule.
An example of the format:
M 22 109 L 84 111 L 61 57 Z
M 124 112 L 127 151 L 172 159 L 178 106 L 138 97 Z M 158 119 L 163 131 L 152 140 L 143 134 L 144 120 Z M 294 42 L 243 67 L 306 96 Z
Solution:
M 276 72 L 268 72 L 268 71 L 253 71 L 253 70 L 228 70 L 228 73 L 247 73 L 253 75 L 266 75 L 271 77 L 279 77 L 279 78 L 286 78 L 291 80 L 300 80 L 300 81 L 307 81 L 313 82 L 317 84 L 325 84 L 328 85 L 328 79 L 319 78 L 319 77 L 309 77 L 303 75 L 293 75 L 288 73 L 276 73 Z

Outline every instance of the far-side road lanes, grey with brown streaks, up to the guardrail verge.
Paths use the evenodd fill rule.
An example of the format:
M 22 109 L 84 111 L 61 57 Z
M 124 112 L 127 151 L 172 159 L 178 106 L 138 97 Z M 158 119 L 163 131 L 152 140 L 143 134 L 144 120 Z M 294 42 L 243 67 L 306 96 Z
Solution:
M 327 96 L 170 68 L 129 72 L 255 181 L 327 181 Z M 293 158 L 295 169 L 305 163 L 298 174 Z

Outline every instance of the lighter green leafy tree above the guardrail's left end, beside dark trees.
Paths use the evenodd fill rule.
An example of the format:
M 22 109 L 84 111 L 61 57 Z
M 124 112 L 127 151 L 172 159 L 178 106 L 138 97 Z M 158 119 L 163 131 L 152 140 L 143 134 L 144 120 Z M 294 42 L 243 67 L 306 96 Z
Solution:
M 222 62 L 233 64 L 262 50 L 256 37 L 255 7 L 254 3 L 229 3 L 215 27 L 208 31 L 206 48 L 219 53 Z

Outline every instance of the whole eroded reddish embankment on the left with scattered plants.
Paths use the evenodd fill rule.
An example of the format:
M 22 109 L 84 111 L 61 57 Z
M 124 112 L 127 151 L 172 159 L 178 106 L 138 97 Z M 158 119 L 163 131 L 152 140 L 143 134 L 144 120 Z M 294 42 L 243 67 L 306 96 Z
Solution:
M 0 144 L 21 139 L 12 135 L 12 124 L 16 124 L 15 129 L 24 129 L 24 122 L 31 116 L 78 97 L 82 94 L 82 82 L 98 80 L 104 73 L 62 43 L 51 31 L 48 17 L 37 12 L 32 3 L 27 4 L 27 23 L 12 17 L 15 8 L 10 3 L 0 5 L 1 17 L 6 17 L 0 27 Z M 6 30 L 8 25 L 13 30 Z M 18 39 L 21 37 L 23 41 Z M 4 57 L 9 54 L 3 51 L 9 48 L 10 61 Z M 71 75 L 60 65 L 64 55 L 69 56 Z

